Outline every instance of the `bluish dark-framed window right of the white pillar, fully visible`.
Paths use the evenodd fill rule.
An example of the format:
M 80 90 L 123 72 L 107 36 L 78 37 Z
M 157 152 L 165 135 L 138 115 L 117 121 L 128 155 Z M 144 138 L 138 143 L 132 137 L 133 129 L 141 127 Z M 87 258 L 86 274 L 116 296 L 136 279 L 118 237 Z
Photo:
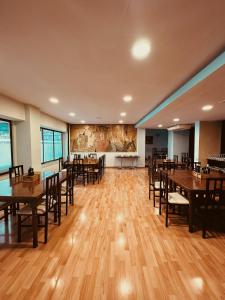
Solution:
M 41 128 L 42 163 L 59 159 L 63 156 L 62 132 Z

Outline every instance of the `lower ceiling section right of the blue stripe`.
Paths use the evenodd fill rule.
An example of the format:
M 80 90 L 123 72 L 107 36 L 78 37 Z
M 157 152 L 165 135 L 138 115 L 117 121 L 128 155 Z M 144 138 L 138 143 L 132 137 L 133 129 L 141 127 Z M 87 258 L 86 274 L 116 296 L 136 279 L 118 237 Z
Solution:
M 210 111 L 202 107 L 212 105 Z M 173 122 L 179 118 L 179 122 Z M 193 124 L 195 121 L 225 120 L 225 66 L 177 98 L 162 111 L 141 125 L 142 128 L 163 128 L 175 124 Z

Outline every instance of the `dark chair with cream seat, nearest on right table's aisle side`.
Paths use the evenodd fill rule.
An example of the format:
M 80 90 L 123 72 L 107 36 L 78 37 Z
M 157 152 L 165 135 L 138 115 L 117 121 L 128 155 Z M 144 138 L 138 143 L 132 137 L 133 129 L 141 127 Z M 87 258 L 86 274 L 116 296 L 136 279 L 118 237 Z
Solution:
M 169 171 L 171 172 L 171 171 Z M 168 227 L 169 208 L 173 207 L 173 213 L 175 213 L 176 207 L 189 207 L 189 201 L 181 193 L 173 192 L 173 187 L 169 186 L 168 173 L 165 172 L 162 178 L 165 186 L 165 204 L 166 204 L 166 219 L 165 225 Z

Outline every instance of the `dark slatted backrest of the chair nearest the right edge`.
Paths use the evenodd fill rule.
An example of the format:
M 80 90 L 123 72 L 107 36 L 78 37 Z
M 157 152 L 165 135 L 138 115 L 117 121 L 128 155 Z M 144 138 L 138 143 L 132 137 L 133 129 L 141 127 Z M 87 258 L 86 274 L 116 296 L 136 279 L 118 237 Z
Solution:
M 206 178 L 205 206 L 225 205 L 225 178 Z

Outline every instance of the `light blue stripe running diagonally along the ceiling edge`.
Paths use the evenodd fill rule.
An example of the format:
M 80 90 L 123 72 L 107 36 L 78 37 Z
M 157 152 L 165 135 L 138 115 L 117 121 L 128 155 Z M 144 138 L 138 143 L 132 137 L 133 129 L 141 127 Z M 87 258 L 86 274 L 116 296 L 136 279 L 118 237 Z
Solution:
M 213 72 L 221 68 L 225 64 L 225 51 L 217 56 L 211 63 L 209 63 L 205 68 L 198 72 L 194 77 L 188 80 L 184 85 L 177 89 L 173 94 L 171 94 L 166 100 L 164 100 L 159 106 L 153 109 L 145 117 L 137 122 L 136 127 L 143 125 L 146 121 L 155 116 L 158 112 L 168 106 L 170 103 L 175 101 L 178 97 L 186 93 L 188 90 L 193 88 L 196 84 L 204 80 L 206 77 L 211 75 Z

